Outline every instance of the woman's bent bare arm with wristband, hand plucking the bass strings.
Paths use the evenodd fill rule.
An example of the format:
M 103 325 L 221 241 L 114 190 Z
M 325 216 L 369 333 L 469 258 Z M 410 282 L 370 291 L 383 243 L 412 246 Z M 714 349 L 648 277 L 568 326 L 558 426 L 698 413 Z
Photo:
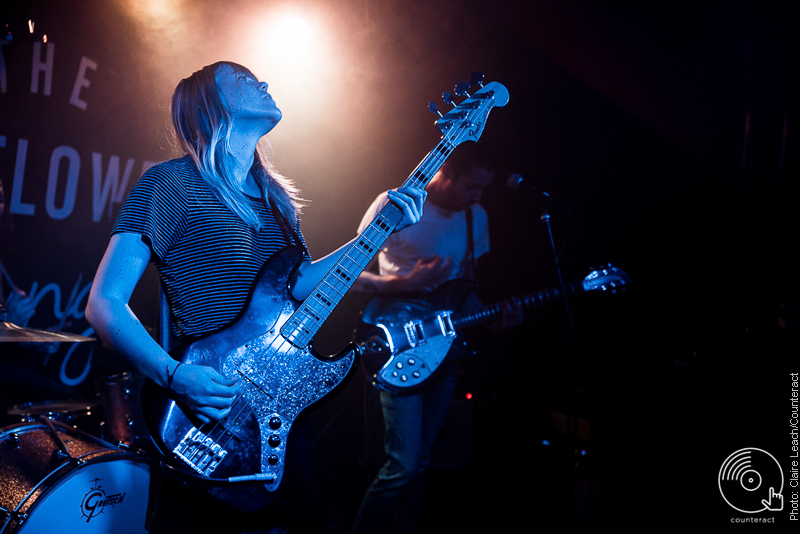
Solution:
M 178 362 L 150 337 L 128 306 L 149 260 L 150 248 L 140 234 L 113 235 L 89 293 L 86 318 L 107 346 L 156 384 L 171 389 L 200 421 L 220 419 L 230 410 L 237 381 L 211 367 L 178 369 Z

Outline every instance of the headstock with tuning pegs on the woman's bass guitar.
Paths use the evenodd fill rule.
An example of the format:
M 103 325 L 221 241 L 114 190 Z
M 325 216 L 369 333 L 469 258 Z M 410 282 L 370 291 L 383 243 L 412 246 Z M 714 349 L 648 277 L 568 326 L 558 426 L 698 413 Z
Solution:
M 480 86 L 480 89 L 469 94 L 470 88 Z M 455 107 L 442 115 L 436 109 L 436 104 L 431 102 L 429 109 L 441 115 L 436 125 L 442 131 L 443 137 L 453 144 L 459 145 L 464 141 L 477 141 L 483 133 L 486 119 L 494 107 L 503 107 L 508 103 L 508 90 L 498 82 L 489 82 L 483 85 L 483 74 L 473 73 L 469 82 L 460 82 L 455 87 L 455 94 L 467 98 L 456 105 L 450 93 L 444 93 L 444 101 Z

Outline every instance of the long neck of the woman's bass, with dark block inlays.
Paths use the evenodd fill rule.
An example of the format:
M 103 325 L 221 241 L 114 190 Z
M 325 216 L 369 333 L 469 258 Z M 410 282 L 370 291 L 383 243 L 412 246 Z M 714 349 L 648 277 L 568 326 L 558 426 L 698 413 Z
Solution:
M 447 136 L 422 159 L 403 187 L 423 190 L 455 148 Z M 394 204 L 388 203 L 378 212 L 358 238 L 314 288 L 281 328 L 281 334 L 296 347 L 304 348 L 313 339 L 356 278 L 383 246 L 403 218 Z

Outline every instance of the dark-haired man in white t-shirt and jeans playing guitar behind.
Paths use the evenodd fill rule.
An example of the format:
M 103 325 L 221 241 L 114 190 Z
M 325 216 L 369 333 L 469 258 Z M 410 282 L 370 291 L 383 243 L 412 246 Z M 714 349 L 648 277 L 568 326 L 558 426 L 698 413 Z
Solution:
M 389 237 L 378 256 L 380 272 L 364 271 L 354 289 L 371 293 L 430 291 L 451 279 L 474 279 L 475 260 L 489 251 L 486 210 L 478 203 L 494 174 L 486 144 L 458 147 L 428 185 L 420 221 Z M 359 231 L 386 201 L 385 194 L 378 196 Z M 504 325 L 519 322 L 519 310 L 504 310 Z M 441 370 L 440 376 L 414 395 L 380 391 L 387 459 L 364 496 L 354 534 L 384 532 L 390 525 L 397 525 L 400 532 L 414 531 L 431 448 L 447 415 L 457 367 Z

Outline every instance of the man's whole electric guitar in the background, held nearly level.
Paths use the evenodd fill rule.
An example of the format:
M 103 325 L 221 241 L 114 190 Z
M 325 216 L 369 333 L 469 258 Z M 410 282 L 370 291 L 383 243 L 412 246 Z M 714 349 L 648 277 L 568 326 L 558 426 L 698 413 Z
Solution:
M 568 296 L 585 291 L 616 291 L 629 283 L 625 272 L 608 266 L 566 285 L 564 291 Z M 362 312 L 355 340 L 367 356 L 376 355 L 386 361 L 375 374 L 375 383 L 393 393 L 414 393 L 445 367 L 444 362 L 458 358 L 453 343 L 459 330 L 500 319 L 506 303 L 516 303 L 526 310 L 561 297 L 561 292 L 552 288 L 458 311 L 472 289 L 468 280 L 451 280 L 430 293 L 372 297 Z

